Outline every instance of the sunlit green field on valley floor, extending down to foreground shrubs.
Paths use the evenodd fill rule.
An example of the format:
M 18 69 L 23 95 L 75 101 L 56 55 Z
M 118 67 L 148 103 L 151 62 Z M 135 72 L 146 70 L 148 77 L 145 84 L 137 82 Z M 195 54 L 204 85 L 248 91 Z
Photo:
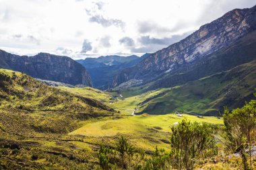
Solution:
M 183 114 L 183 118 L 181 118 L 176 116 L 176 114 L 159 116 L 142 114 L 139 116 L 119 116 L 119 118 L 99 121 L 86 121 L 82 128 L 70 132 L 69 135 L 90 137 L 127 136 L 127 138 L 135 142 L 136 146 L 141 146 L 144 149 L 151 150 L 156 145 L 168 148 L 168 143 L 166 144 L 166 142 L 162 142 L 161 140 L 166 139 L 168 141 L 168 137 L 166 136 L 171 132 L 170 127 L 174 126 L 175 122 L 180 122 L 184 118 L 192 122 L 223 124 L 222 119 L 210 116 L 198 118 L 197 116 Z

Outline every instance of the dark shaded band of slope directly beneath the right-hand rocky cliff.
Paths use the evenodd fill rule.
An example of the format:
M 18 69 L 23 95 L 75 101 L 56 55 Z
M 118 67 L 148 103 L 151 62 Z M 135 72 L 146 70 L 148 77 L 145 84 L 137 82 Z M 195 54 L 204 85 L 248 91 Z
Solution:
M 230 46 L 221 48 L 217 52 L 206 56 L 204 59 L 184 65 L 176 71 L 166 73 L 156 81 L 153 81 L 149 89 L 160 87 L 173 87 L 183 85 L 189 81 L 194 81 L 219 73 L 228 71 L 238 65 L 255 60 L 256 58 L 256 31 L 237 40 Z

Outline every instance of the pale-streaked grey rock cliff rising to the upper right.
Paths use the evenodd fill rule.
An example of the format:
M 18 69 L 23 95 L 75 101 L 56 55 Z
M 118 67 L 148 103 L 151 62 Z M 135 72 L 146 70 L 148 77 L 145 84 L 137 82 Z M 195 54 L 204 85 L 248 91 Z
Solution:
M 201 60 L 256 30 L 256 6 L 234 9 L 187 38 L 168 46 L 139 62 L 132 69 L 115 75 L 113 86 L 130 79 L 148 81 L 183 65 Z

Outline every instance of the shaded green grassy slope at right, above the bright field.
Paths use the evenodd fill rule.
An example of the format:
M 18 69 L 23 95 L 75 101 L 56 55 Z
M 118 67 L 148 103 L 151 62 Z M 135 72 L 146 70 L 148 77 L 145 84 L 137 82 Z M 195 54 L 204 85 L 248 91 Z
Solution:
M 137 112 L 147 114 L 168 114 L 175 111 L 189 112 L 194 114 L 217 115 L 224 105 L 229 108 L 237 108 L 246 100 L 253 97 L 256 87 L 256 60 L 235 67 L 229 71 L 217 73 L 197 81 L 191 81 L 185 85 L 168 89 L 158 89 L 156 93 L 164 93 L 159 97 L 153 97 L 147 102 L 138 105 Z M 138 92 L 138 87 L 127 89 L 127 91 Z M 123 90 L 125 91 L 125 90 Z M 123 93 L 127 93 L 127 91 Z M 148 93 L 151 93 L 149 91 Z M 155 93 L 155 94 L 156 94 Z M 139 94 L 139 93 L 138 93 Z M 137 99 L 145 100 L 142 93 L 135 97 L 127 97 L 138 104 Z

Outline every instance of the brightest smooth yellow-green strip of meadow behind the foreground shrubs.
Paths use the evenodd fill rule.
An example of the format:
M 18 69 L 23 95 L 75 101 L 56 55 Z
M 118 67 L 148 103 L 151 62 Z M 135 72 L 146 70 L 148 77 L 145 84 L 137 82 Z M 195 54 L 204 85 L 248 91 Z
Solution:
M 183 114 L 183 118 L 176 114 L 166 114 L 150 116 L 142 114 L 139 116 L 120 116 L 119 119 L 102 120 L 96 122 L 85 122 L 85 126 L 78 128 L 69 134 L 82 134 L 85 136 L 115 136 L 117 134 L 135 134 L 147 132 L 148 129 L 156 129 L 160 132 L 170 132 L 170 126 L 175 122 L 180 122 L 184 118 L 197 122 L 207 122 L 211 124 L 223 124 L 222 119 L 213 116 L 198 118 Z

